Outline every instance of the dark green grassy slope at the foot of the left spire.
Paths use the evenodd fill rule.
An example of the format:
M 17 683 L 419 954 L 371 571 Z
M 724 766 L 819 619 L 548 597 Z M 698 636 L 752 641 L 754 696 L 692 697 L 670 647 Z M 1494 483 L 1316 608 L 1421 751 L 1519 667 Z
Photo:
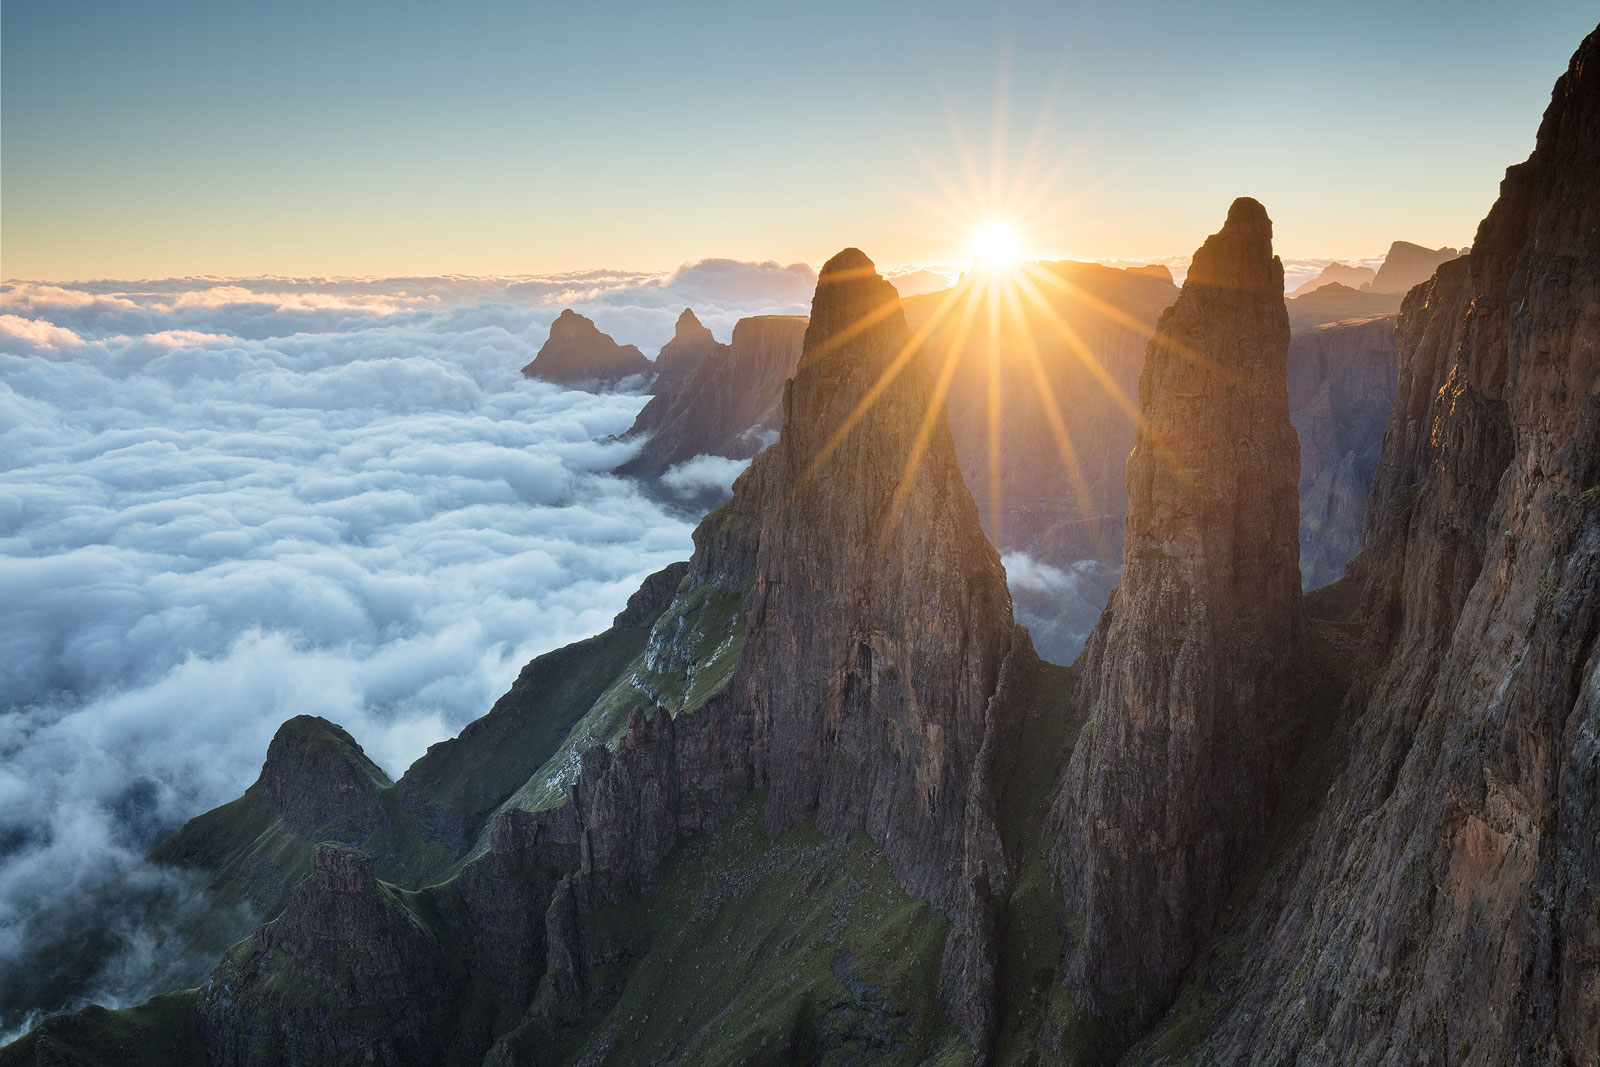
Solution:
M 586 921 L 602 963 L 557 1054 L 533 1027 L 510 1043 L 611 1067 L 968 1062 L 936 1000 L 944 917 L 862 835 L 766 838 L 757 805 L 685 841 L 654 891 Z

